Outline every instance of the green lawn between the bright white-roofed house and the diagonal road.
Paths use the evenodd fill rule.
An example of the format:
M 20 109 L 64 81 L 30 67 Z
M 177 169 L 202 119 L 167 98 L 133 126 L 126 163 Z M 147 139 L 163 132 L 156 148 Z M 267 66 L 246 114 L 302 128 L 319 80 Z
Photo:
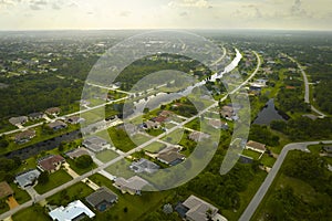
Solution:
M 64 189 L 52 197 L 49 197 L 46 200 L 50 204 L 55 206 L 66 206 L 74 200 L 84 201 L 85 197 L 91 194 L 93 189 L 83 182 L 77 182 L 71 186 L 68 189 Z

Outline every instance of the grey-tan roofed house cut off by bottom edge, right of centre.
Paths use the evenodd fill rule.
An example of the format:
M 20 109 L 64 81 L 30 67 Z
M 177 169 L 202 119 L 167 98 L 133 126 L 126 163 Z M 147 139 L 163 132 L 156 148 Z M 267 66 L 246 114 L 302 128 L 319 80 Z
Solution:
M 212 204 L 191 194 L 183 203 L 175 207 L 178 214 L 188 221 L 227 221 L 225 217 L 218 213 L 218 209 Z

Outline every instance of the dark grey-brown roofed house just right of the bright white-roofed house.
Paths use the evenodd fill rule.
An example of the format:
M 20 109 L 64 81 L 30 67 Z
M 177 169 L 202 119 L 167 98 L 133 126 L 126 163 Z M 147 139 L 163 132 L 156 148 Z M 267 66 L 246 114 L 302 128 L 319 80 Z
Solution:
M 103 212 L 117 201 L 117 196 L 108 188 L 101 187 L 86 197 L 85 200 L 91 207 Z

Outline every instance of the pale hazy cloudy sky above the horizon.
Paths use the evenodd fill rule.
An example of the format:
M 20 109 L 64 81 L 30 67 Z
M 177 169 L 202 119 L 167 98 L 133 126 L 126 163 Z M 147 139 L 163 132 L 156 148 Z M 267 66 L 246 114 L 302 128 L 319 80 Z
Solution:
M 0 0 L 0 30 L 332 30 L 332 0 Z

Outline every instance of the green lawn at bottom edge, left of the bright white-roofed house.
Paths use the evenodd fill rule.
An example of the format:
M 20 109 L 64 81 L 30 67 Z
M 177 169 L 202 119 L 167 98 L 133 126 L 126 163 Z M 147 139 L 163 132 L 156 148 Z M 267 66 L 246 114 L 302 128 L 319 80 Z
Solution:
M 45 210 L 39 204 L 23 209 L 12 215 L 13 221 L 51 221 Z

